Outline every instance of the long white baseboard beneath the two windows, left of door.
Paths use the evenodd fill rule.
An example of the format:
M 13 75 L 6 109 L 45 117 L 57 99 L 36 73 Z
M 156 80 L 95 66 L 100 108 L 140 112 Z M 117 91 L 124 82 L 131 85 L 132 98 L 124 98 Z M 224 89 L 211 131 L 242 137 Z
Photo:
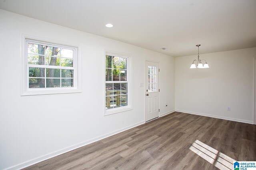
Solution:
M 101 139 L 104 139 L 104 138 L 107 138 L 107 137 L 110 137 L 112 135 L 116 135 L 117 133 L 120 133 L 120 132 L 123 132 L 123 131 L 126 131 L 128 129 L 132 129 L 136 126 L 139 126 L 139 125 L 142 125 L 144 124 L 145 121 L 141 121 L 139 123 L 135 123 L 134 125 L 131 125 L 131 126 L 128 126 L 128 127 L 125 127 L 125 128 L 122 128 L 122 129 L 119 129 L 117 131 L 113 131 L 111 133 L 108 133 L 106 135 L 102 135 L 100 137 L 96 137 L 94 139 L 91 139 L 91 140 L 88 140 L 88 141 L 85 141 L 85 142 L 82 142 L 82 143 L 79 143 L 79 144 L 76 144 L 76 145 L 73 145 L 73 146 L 70 146 L 70 147 L 67 147 L 67 148 L 64 148 L 64 149 L 60 149 L 60 150 L 57 150 L 57 151 L 54 151 L 54 152 L 51 152 L 49 154 L 45 154 L 43 156 L 39 156 L 37 158 L 34 158 L 32 160 L 28 160 L 26 162 L 23 162 L 21 164 L 18 164 L 18 165 L 15 165 L 15 166 L 11 166 L 9 168 L 6 168 L 4 170 L 19 170 L 19 169 L 22 169 L 22 168 L 26 168 L 28 166 L 31 166 L 31 165 L 34 165 L 34 164 L 37 164 L 38 162 L 42 162 L 44 160 L 47 160 L 47 159 L 50 159 L 50 158 L 53 158 L 55 156 L 58 156 L 60 154 L 64 154 L 66 152 L 69 152 L 71 150 L 74 150 L 74 149 L 78 149 L 80 147 L 84 147 L 85 145 L 88 145 L 90 143 L 94 143 L 96 141 L 99 141 Z

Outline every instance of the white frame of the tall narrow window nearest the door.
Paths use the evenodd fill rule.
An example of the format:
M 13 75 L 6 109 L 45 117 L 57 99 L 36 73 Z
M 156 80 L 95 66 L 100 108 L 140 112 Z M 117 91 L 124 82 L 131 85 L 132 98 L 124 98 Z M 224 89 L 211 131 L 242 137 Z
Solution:
M 106 109 L 106 55 L 111 55 L 115 57 L 124 57 L 127 59 L 127 106 L 116 107 L 112 109 Z M 133 109 L 132 104 L 132 56 L 124 53 L 117 53 L 113 51 L 104 51 L 104 116 L 112 115 L 115 113 L 121 113 L 124 111 L 129 111 Z

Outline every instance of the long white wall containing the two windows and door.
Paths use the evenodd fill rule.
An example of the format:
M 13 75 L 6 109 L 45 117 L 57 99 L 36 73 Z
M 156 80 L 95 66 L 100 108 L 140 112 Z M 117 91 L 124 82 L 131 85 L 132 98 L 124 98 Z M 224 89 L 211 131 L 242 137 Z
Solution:
M 82 93 L 20 96 L 21 34 L 80 45 Z M 133 57 L 133 110 L 103 116 L 104 49 Z M 28 166 L 144 123 L 139 85 L 146 60 L 160 63 L 160 114 L 174 110 L 174 58 L 167 55 L 4 10 L 0 53 L 0 169 Z

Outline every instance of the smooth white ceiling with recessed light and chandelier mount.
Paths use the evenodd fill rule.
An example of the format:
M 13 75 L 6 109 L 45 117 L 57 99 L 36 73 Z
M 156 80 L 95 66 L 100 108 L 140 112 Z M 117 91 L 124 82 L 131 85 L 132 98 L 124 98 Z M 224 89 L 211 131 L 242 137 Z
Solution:
M 0 8 L 173 57 L 197 54 L 196 44 L 200 53 L 256 47 L 256 0 L 0 0 Z

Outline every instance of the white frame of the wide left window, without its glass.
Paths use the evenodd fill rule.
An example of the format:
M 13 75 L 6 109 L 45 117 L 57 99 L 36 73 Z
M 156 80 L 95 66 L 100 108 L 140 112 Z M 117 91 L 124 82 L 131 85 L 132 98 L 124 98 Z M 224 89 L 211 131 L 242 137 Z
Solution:
M 73 67 L 58 66 L 60 69 L 73 69 L 73 87 L 62 87 L 62 88 L 29 88 L 28 80 L 28 68 L 29 67 L 42 67 L 42 68 L 56 68 L 50 65 L 34 65 L 28 64 L 28 43 L 39 43 L 42 45 L 50 45 L 54 47 L 60 47 L 64 49 L 72 49 L 73 51 Z M 43 40 L 36 37 L 22 35 L 21 38 L 21 94 L 20 96 L 31 96 L 31 95 L 44 95 L 44 94 L 65 94 L 65 93 L 79 93 L 81 92 L 81 81 L 80 81 L 80 54 L 78 53 L 79 47 L 76 45 L 64 45 L 53 41 Z

